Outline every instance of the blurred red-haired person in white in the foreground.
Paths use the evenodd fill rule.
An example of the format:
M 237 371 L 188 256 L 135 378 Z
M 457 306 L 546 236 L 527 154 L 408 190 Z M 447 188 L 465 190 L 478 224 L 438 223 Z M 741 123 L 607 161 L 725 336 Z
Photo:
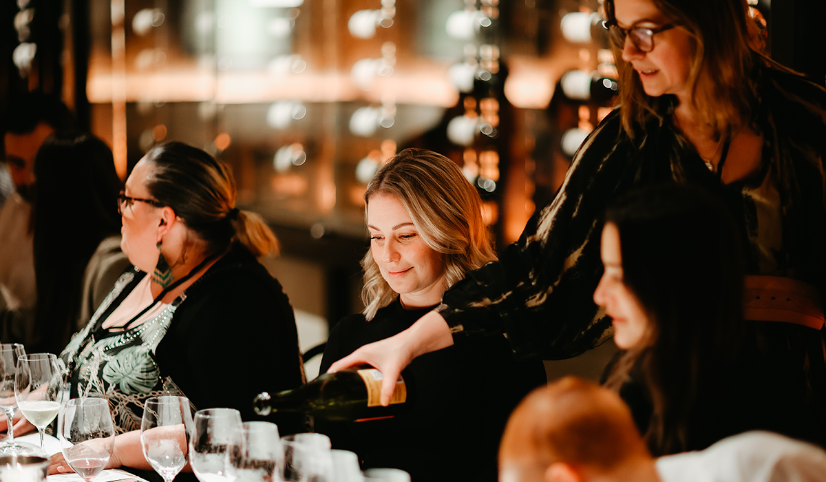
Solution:
M 771 432 L 655 459 L 623 401 L 567 377 L 535 389 L 508 420 L 501 482 L 819 482 L 826 452 Z

